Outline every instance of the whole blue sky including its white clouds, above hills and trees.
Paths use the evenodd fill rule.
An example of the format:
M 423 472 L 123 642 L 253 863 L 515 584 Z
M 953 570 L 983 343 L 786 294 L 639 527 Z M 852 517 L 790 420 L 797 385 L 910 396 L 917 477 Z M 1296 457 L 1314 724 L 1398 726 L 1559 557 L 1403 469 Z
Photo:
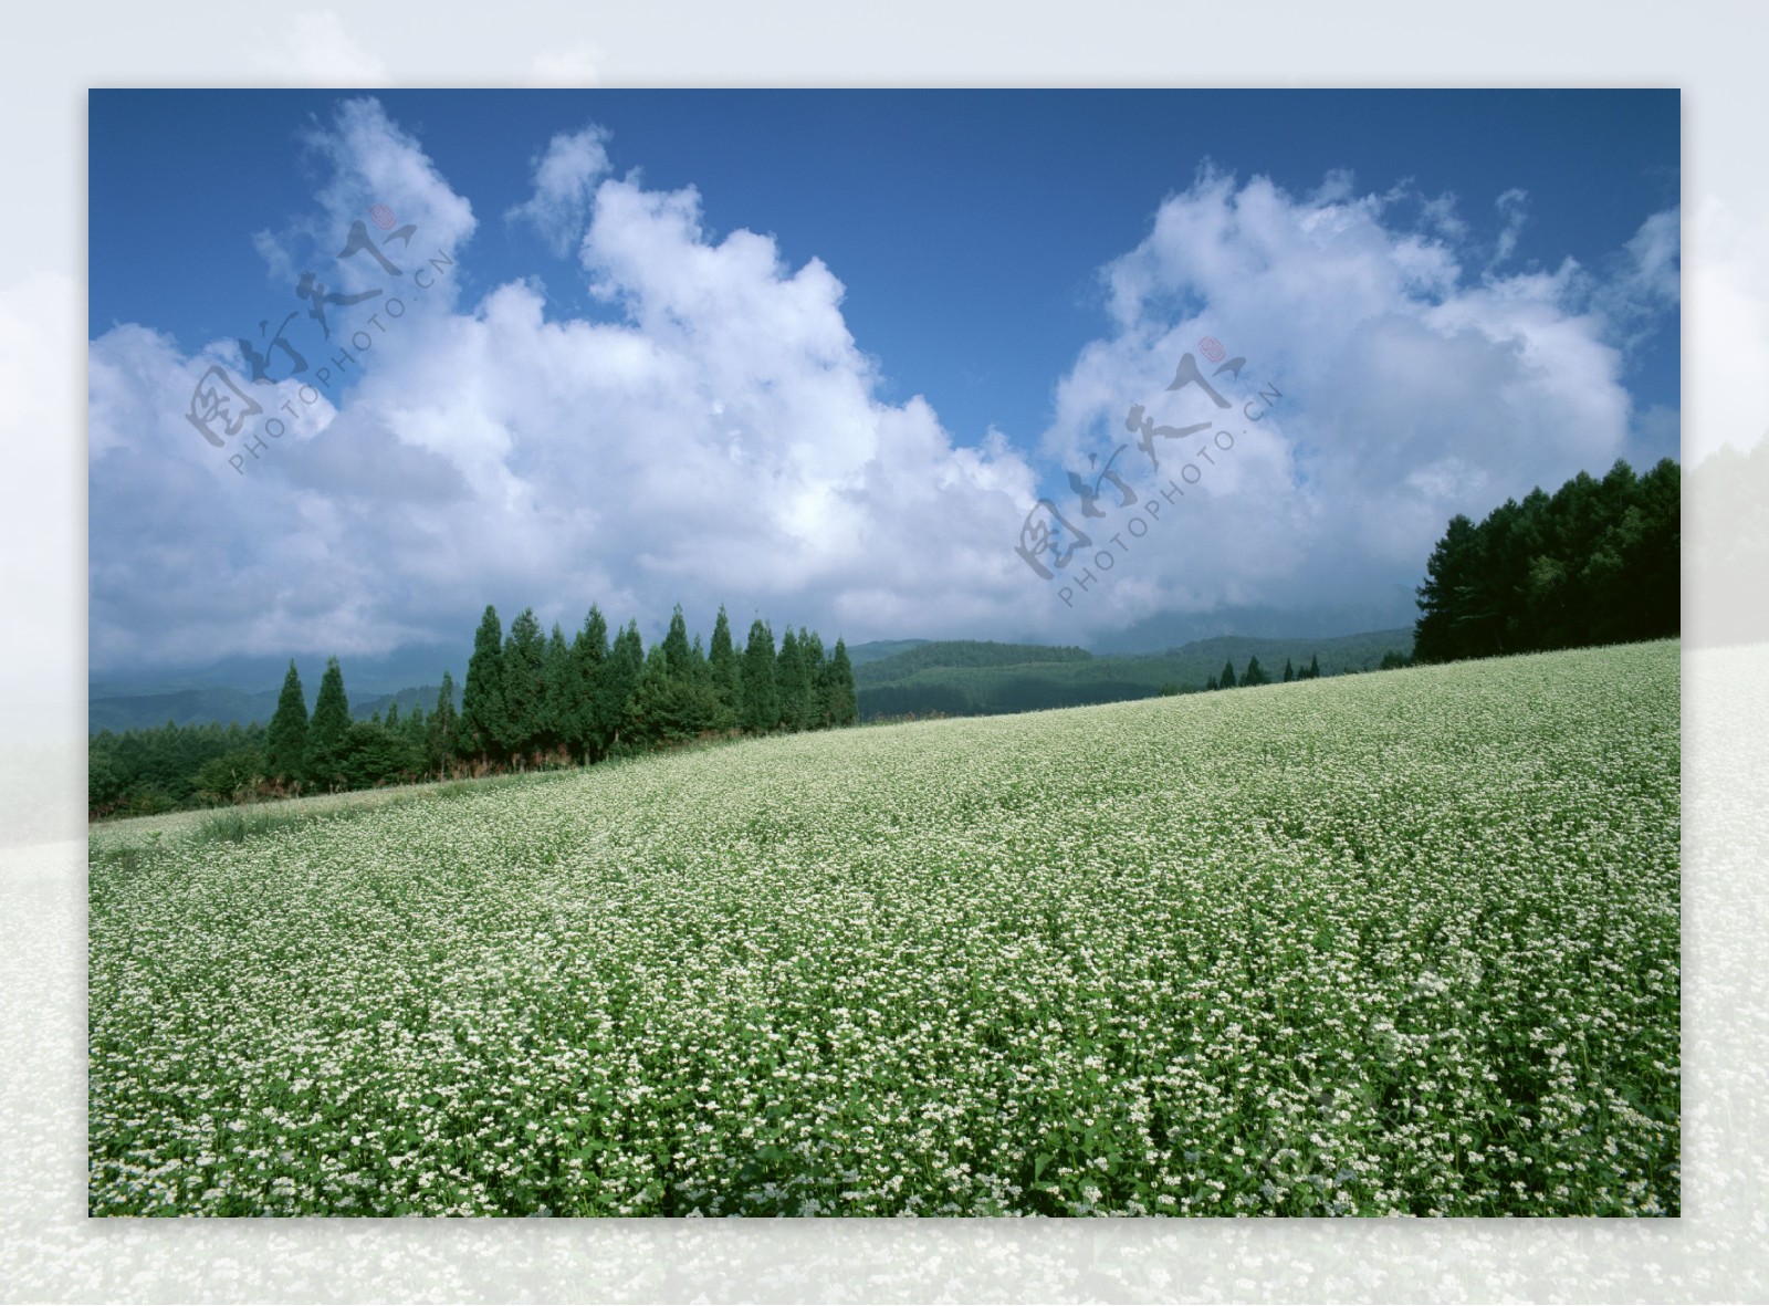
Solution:
M 1675 90 L 94 92 L 92 671 L 485 602 L 1091 646 L 1405 612 L 1451 511 L 1677 457 L 1679 134 Z M 373 296 L 333 260 L 373 202 L 446 285 L 325 402 L 260 388 L 302 421 L 228 465 L 195 379 L 301 271 Z M 1137 519 L 1180 442 L 1125 411 L 1180 423 L 1206 336 L 1283 402 Z M 1049 579 L 1040 496 L 1091 529 Z

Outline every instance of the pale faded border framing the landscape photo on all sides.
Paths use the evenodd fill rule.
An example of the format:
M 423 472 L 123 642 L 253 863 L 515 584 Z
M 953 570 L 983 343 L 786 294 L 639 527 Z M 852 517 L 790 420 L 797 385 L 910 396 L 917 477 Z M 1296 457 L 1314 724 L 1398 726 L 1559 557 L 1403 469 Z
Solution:
M 88 87 L 1681 87 L 1693 465 L 1769 428 L 1765 53 L 1769 7 L 1755 4 L 12 7 L 0 51 L 0 1299 L 1769 1297 L 1764 646 L 1684 662 L 1684 1218 L 1658 1225 L 87 1221 L 81 839 Z M 193 157 L 191 184 L 214 165 Z M 1684 596 L 1760 602 L 1700 575 Z

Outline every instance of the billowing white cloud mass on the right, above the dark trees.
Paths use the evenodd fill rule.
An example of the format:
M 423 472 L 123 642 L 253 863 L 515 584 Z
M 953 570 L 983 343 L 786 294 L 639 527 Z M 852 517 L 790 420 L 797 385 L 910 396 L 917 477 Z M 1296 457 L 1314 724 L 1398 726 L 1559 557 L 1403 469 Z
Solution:
M 1520 204 L 1502 196 L 1507 232 Z M 1624 453 L 1633 414 L 1617 317 L 1624 301 L 1650 294 L 1663 306 L 1673 288 L 1675 216 L 1645 223 L 1624 285 L 1571 260 L 1481 273 L 1467 237 L 1452 205 L 1421 204 L 1405 186 L 1359 196 L 1344 179 L 1297 198 L 1206 168 L 1162 204 L 1152 234 L 1104 271 L 1113 334 L 1063 377 L 1042 441 L 1065 467 L 1116 453 L 1145 510 L 1173 464 L 1191 460 L 1198 476 L 1166 510 L 1182 529 L 1164 529 L 1159 547 L 1153 533 L 1125 540 L 1102 559 L 1114 579 L 1099 598 L 1090 586 L 1097 616 L 1394 593 L 1417 582 L 1451 515 L 1479 519 Z M 1205 361 L 1206 336 L 1247 359 L 1222 379 L 1228 409 L 1198 388 L 1168 389 L 1183 354 Z M 1192 437 L 1139 449 L 1125 426 L 1132 405 L 1169 428 L 1210 421 L 1222 432 L 1210 439 L 1233 448 Z M 1123 584 L 1132 570 L 1134 591 Z

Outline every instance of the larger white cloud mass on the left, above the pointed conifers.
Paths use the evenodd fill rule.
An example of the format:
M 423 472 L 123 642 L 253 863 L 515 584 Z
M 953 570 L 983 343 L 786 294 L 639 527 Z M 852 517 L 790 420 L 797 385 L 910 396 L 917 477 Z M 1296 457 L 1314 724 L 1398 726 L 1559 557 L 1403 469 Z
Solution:
M 600 138 L 564 140 L 529 212 L 589 204 Z M 425 248 L 465 242 L 469 205 L 379 106 L 313 143 L 336 168 L 322 216 L 272 253 L 324 248 L 370 202 L 414 214 Z M 338 405 L 253 388 L 288 432 L 244 474 L 226 462 L 242 441 L 209 448 L 184 412 L 235 349 L 94 342 L 94 667 L 463 637 L 488 600 L 566 625 L 591 602 L 655 623 L 681 600 L 702 626 L 727 602 L 830 637 L 1019 621 L 1003 524 L 1033 496 L 1022 457 L 955 448 L 918 398 L 881 403 L 830 269 L 752 232 L 715 242 L 699 214 L 692 189 L 603 181 L 582 269 L 624 320 L 547 320 L 531 283 L 471 308 L 439 288 L 370 334 Z

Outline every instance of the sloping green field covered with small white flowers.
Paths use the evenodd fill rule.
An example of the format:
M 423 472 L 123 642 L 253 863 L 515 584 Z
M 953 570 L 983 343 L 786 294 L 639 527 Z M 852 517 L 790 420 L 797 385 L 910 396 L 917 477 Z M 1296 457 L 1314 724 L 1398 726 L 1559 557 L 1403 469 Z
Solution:
M 1679 1214 L 1677 644 L 94 842 L 92 1214 Z

